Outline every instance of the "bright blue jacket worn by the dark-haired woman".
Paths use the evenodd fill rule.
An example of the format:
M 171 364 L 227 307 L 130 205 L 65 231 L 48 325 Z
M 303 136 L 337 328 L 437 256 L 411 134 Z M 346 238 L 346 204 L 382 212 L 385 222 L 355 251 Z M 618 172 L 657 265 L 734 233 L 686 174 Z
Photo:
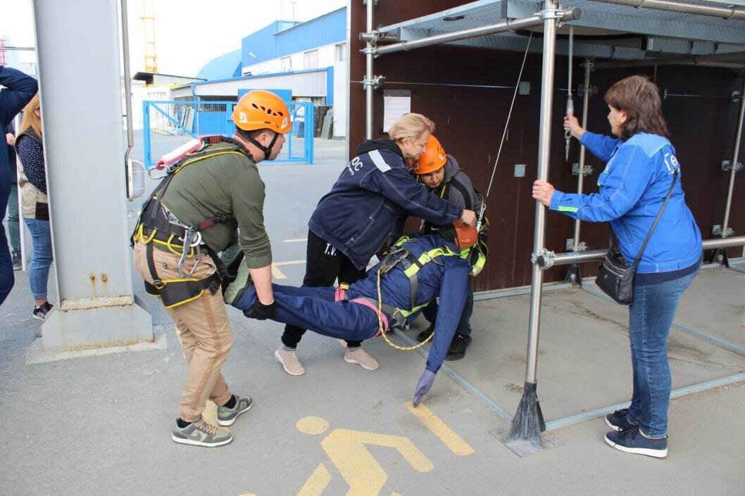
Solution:
M 609 221 L 618 236 L 621 254 L 631 264 L 665 201 L 674 171 L 679 171 L 680 177 L 675 148 L 667 138 L 646 133 L 624 142 L 586 131 L 580 142 L 606 162 L 597 179 L 600 192 L 556 191 L 551 197 L 551 210 L 574 219 Z M 701 232 L 685 204 L 678 180 L 637 272 L 665 273 L 691 267 L 700 260 L 701 243 Z

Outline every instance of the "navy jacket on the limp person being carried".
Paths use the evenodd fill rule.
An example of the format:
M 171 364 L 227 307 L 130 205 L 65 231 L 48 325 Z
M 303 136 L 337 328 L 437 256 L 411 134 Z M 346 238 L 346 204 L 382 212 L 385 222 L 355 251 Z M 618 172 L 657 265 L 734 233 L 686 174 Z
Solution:
M 431 249 L 448 247 L 452 252 L 459 252 L 451 241 L 445 241 L 438 235 L 425 235 L 416 238 L 404 245 L 414 258 L 418 258 L 424 252 Z M 377 273 L 380 263 L 367 271 L 367 278 L 355 282 L 347 290 L 347 298 L 355 299 L 361 296 L 377 299 Z M 419 289 L 416 293 L 416 305 L 431 302 L 440 298 L 440 308 L 437 310 L 434 337 L 427 357 L 426 369 L 437 373 L 448 352 L 453 334 L 460 321 L 463 305 L 466 302 L 466 293 L 469 288 L 469 273 L 471 267 L 468 261 L 457 255 L 440 256 L 422 265 L 416 274 L 419 281 Z M 409 310 L 410 282 L 404 273 L 402 264 L 396 264 L 392 270 L 384 273 L 381 283 L 381 299 L 387 305 L 394 308 Z M 413 322 L 419 312 L 410 315 L 408 322 Z

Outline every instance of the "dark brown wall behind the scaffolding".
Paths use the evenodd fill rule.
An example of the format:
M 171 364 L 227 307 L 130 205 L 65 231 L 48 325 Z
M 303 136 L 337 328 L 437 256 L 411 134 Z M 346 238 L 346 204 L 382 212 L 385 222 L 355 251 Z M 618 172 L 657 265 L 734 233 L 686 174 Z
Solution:
M 374 25 L 402 22 L 463 3 L 466 2 L 387 0 L 375 5 Z M 364 48 L 364 43 L 357 38 L 365 29 L 365 6 L 362 2 L 353 1 L 351 8 L 349 149 L 353 154 L 356 145 L 364 140 L 365 128 L 365 98 L 360 83 L 364 77 L 365 60 L 364 54 L 359 52 Z M 542 40 L 533 39 L 533 43 L 540 44 Z M 434 46 L 384 55 L 375 59 L 373 67 L 375 74 L 386 77 L 385 89 L 410 90 L 412 112 L 425 114 L 435 121 L 435 135 L 446 151 L 458 159 L 475 187 L 485 193 L 513 90 L 444 85 L 514 87 L 521 61 L 522 54 L 516 52 Z M 574 67 L 575 90 L 576 84 L 583 80 L 580 62 L 576 60 Z M 541 64 L 540 54 L 528 55 L 522 80 L 530 82 L 530 95 L 517 97 L 507 141 L 489 195 L 490 255 L 486 270 L 475 279 L 474 287 L 477 290 L 530 284 L 530 252 L 533 249 L 535 221 L 535 202 L 530 197 L 530 185 L 537 174 Z M 561 191 L 576 191 L 577 177 L 571 175 L 571 163 L 579 161 L 579 144 L 572 140 L 569 161 L 565 162 L 561 124 L 566 103 L 567 60 L 557 57 L 556 64 L 555 125 L 551 136 L 549 179 Z M 590 97 L 589 130 L 609 133 L 606 120 L 608 108 L 603 102 L 603 94 L 612 83 L 631 74 L 656 77 L 659 87 L 668 89 L 671 94 L 663 102 L 663 112 L 671 128 L 671 141 L 682 164 L 686 199 L 703 238 L 712 238 L 712 226 L 723 221 L 729 185 L 729 173 L 720 171 L 720 163 L 723 159 L 732 158 L 738 118 L 738 103 L 730 101 L 729 95 L 741 89 L 742 75 L 732 69 L 694 66 L 659 66 L 656 75 L 653 68 L 594 71 L 591 86 L 597 86 L 598 92 Z M 381 89 L 375 92 L 374 105 L 373 130 L 379 136 L 383 123 Z M 580 114 L 582 98 L 577 97 L 576 93 L 574 106 L 577 114 Z M 744 155 L 745 151 L 741 151 L 741 161 L 744 161 Z M 585 191 L 595 192 L 597 175 L 604 165 L 590 153 L 586 162 L 595 168 L 595 172 L 586 177 Z M 513 177 L 515 164 L 527 165 L 525 177 Z M 741 200 L 744 195 L 745 172 L 738 174 L 735 181 L 730 214 L 730 226 L 738 233 L 745 233 L 745 212 Z M 574 233 L 574 221 L 550 212 L 547 226 L 546 247 L 564 252 L 565 240 Z M 606 223 L 583 223 L 581 241 L 585 241 L 590 249 L 607 247 L 608 229 Z M 731 256 L 740 254 L 741 249 L 730 252 Z M 597 263 L 585 264 L 583 275 L 594 273 L 596 266 Z M 565 271 L 565 267 L 552 268 L 545 274 L 545 279 L 561 280 Z

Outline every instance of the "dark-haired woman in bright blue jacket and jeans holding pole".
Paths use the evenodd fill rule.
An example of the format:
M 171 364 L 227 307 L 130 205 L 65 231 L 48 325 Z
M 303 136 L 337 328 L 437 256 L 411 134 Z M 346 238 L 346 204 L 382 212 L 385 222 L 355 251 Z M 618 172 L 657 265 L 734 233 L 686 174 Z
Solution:
M 597 158 L 606 161 L 595 194 L 556 191 L 533 183 L 533 198 L 574 219 L 608 221 L 621 253 L 632 261 L 641 249 L 672 181 L 668 206 L 644 249 L 629 310 L 633 395 L 627 409 L 606 416 L 613 430 L 605 441 L 627 453 L 664 458 L 668 454 L 671 375 L 668 333 L 682 293 L 701 264 L 701 232 L 679 179 L 679 162 L 668 141 L 659 89 L 644 76 L 618 81 L 605 95 L 611 133 L 601 136 L 580 126 L 571 112 L 564 127 Z

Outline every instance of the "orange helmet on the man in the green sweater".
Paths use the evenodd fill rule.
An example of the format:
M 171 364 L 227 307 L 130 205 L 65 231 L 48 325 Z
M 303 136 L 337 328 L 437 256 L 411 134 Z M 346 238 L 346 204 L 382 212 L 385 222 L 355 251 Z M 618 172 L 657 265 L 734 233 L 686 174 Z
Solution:
M 243 95 L 233 109 L 232 120 L 244 131 L 270 129 L 285 134 L 292 129 L 287 104 L 264 89 L 253 89 Z

